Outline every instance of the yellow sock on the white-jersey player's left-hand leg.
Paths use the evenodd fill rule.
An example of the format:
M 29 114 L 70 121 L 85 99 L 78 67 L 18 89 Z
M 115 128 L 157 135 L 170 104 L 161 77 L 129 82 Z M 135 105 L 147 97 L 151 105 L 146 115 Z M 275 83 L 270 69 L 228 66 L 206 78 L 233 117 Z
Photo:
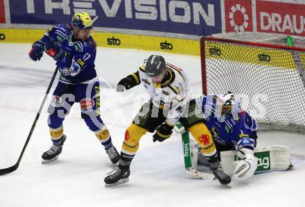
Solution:
M 146 129 L 136 124 L 131 124 L 125 131 L 122 151 L 126 154 L 135 154 L 139 148 L 139 140 L 147 132 Z

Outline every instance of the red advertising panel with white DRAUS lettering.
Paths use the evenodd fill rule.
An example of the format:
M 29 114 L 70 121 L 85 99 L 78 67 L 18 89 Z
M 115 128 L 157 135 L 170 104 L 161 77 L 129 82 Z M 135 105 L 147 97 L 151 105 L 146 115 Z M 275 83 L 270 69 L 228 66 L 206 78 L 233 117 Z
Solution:
M 305 4 L 256 1 L 257 31 L 305 35 Z

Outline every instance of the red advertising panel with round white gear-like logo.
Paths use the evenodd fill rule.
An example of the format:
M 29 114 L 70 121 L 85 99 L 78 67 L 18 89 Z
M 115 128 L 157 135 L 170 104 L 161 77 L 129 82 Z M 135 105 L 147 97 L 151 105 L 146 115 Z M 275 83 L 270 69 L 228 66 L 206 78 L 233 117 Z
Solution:
M 225 27 L 227 32 L 253 31 L 252 1 L 225 1 Z

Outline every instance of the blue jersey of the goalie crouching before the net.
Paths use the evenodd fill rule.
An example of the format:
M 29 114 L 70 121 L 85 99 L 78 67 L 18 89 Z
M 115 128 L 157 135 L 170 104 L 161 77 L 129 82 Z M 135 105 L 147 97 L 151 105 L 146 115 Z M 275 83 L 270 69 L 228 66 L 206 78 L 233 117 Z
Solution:
M 196 99 L 196 102 L 202 108 L 206 125 L 215 142 L 236 150 L 243 147 L 254 149 L 257 125 L 254 119 L 239 107 L 239 104 L 232 109 L 233 114 L 220 116 L 216 109 L 216 96 L 202 95 Z

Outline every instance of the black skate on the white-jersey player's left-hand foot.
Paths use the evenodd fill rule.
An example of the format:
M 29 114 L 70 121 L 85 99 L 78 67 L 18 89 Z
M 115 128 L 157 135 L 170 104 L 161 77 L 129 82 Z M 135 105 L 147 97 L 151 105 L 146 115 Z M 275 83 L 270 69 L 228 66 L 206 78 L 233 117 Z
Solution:
M 116 167 L 107 174 L 110 175 L 106 176 L 104 179 L 106 187 L 120 185 L 129 181 L 128 177 L 130 176 L 130 170 L 129 168 L 121 169 L 120 167 Z

